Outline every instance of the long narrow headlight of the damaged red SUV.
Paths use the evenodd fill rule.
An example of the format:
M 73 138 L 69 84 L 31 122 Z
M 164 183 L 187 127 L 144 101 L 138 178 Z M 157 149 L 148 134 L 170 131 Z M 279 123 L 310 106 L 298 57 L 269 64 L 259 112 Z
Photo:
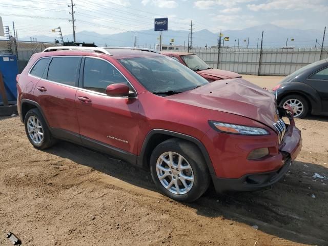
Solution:
M 240 135 L 269 135 L 269 132 L 267 130 L 259 127 L 235 125 L 213 120 L 210 120 L 209 124 L 214 130 L 218 132 Z

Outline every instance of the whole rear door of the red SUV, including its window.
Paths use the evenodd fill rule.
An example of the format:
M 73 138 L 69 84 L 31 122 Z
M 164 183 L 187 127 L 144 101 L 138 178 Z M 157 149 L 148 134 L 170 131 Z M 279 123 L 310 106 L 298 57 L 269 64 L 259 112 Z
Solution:
M 75 109 L 75 94 L 81 57 L 53 57 L 34 94 L 52 128 L 79 132 Z

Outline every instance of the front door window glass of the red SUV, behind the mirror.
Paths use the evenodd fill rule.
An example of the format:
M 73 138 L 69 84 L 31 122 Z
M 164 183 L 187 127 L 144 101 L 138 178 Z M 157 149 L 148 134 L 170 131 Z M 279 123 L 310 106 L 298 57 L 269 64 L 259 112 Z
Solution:
M 111 84 L 128 81 L 120 72 L 105 60 L 85 58 L 83 72 L 83 88 L 106 94 L 106 87 Z

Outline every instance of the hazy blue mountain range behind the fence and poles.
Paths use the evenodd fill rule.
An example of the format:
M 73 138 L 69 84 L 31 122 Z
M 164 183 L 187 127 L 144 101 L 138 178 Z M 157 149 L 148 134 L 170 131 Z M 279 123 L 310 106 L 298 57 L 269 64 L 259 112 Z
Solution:
M 222 31 L 223 37 L 229 37 L 229 41 L 224 41 L 225 46 L 239 46 L 246 47 L 249 39 L 249 47 L 256 48 L 260 46 L 262 30 L 263 35 L 263 47 L 283 47 L 286 45 L 288 39 L 288 46 L 294 47 L 314 47 L 316 44 L 316 38 L 321 45 L 323 30 L 316 29 L 289 29 L 278 27 L 273 24 L 265 24 L 261 26 L 255 26 L 245 28 L 241 30 L 225 30 Z M 188 44 L 188 31 L 184 30 L 169 30 L 163 31 L 163 44 L 169 44 L 171 38 L 174 38 L 175 45 Z M 101 34 L 97 32 L 81 31 L 76 33 L 77 42 L 95 43 L 97 46 L 133 46 L 134 39 L 137 36 L 137 46 L 139 47 L 152 47 L 159 43 L 159 32 L 155 32 L 153 29 L 142 31 L 128 31 L 115 34 Z M 49 36 L 31 36 L 37 38 L 38 41 L 53 42 L 53 37 Z M 193 47 L 208 47 L 216 46 L 218 42 L 219 32 L 213 33 L 207 29 L 195 31 L 192 33 L 192 46 Z M 64 41 L 72 40 L 73 35 L 64 35 Z M 294 39 L 292 41 L 292 39 Z M 326 38 L 327 40 L 328 38 Z M 21 37 L 20 40 L 30 40 L 30 36 Z M 236 40 L 236 43 L 235 43 Z M 328 44 L 325 43 L 325 44 Z M 223 38 L 222 38 L 223 45 Z M 317 44 L 317 47 L 319 45 Z

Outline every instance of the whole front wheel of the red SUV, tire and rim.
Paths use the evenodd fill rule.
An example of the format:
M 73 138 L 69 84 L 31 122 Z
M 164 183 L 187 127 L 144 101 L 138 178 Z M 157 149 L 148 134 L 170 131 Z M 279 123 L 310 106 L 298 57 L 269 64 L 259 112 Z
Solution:
M 194 144 L 178 138 L 163 141 L 154 149 L 150 170 L 156 187 L 178 201 L 196 200 L 210 184 L 201 152 Z

